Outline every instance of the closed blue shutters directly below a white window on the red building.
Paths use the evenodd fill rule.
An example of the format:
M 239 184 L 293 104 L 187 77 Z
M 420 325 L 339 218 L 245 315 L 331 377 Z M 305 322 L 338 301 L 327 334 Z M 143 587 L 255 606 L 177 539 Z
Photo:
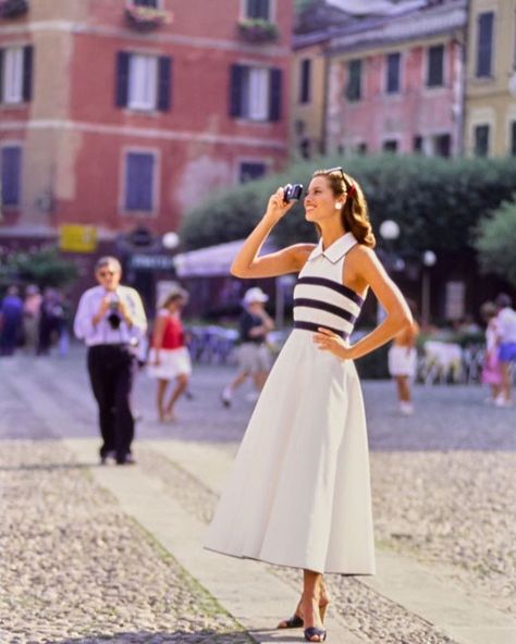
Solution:
M 156 156 L 151 152 L 127 152 L 125 157 L 125 211 L 153 212 L 156 165 Z

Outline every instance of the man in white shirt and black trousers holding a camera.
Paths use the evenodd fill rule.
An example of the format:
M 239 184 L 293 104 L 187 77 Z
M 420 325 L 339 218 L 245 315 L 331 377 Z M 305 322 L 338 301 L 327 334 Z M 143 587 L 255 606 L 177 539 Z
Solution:
M 98 286 L 81 297 L 74 333 L 88 347 L 88 373 L 102 437 L 100 462 L 114 458 L 118 465 L 132 463 L 135 349 L 147 331 L 147 319 L 138 293 L 120 284 L 122 267 L 116 258 L 100 258 L 95 276 Z

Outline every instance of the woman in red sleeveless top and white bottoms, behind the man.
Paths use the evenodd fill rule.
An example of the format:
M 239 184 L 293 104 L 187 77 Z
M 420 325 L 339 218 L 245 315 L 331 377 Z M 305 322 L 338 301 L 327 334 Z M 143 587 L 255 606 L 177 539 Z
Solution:
M 160 304 L 156 319 L 147 373 L 158 380 L 157 404 L 161 422 L 176 420 L 174 405 L 186 392 L 192 374 L 192 361 L 181 322 L 181 310 L 187 301 L 188 293 L 184 288 L 174 288 Z M 167 403 L 167 389 L 172 380 L 175 386 Z

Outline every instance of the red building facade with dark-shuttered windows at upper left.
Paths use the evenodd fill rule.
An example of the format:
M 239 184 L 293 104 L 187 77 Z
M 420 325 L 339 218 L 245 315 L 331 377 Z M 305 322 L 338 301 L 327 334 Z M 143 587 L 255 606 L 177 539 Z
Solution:
M 105 239 L 175 231 L 213 189 L 285 161 L 292 2 L 26 4 L 0 18 L 11 181 L 0 234 L 51 237 L 65 223 Z M 272 36 L 256 36 L 255 18 Z

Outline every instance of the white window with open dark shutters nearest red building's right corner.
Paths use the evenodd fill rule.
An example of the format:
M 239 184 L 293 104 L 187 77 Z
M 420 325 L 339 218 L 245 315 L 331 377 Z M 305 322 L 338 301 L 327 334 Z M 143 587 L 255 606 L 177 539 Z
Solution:
M 281 89 L 281 70 L 232 65 L 231 116 L 249 121 L 279 121 Z

